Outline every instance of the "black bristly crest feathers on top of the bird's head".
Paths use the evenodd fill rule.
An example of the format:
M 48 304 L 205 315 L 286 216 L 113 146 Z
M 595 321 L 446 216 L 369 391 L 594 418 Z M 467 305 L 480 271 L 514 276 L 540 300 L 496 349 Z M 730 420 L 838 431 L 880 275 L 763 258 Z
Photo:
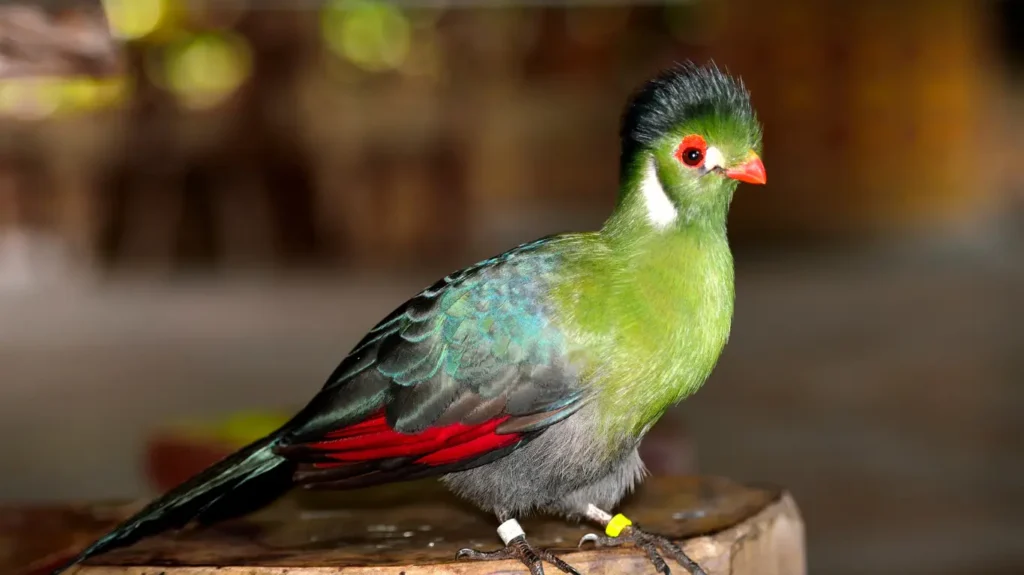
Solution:
M 699 67 L 686 61 L 648 80 L 630 99 L 623 115 L 623 171 L 640 149 L 688 119 L 709 114 L 757 125 L 751 94 L 742 81 L 723 73 L 714 62 Z

